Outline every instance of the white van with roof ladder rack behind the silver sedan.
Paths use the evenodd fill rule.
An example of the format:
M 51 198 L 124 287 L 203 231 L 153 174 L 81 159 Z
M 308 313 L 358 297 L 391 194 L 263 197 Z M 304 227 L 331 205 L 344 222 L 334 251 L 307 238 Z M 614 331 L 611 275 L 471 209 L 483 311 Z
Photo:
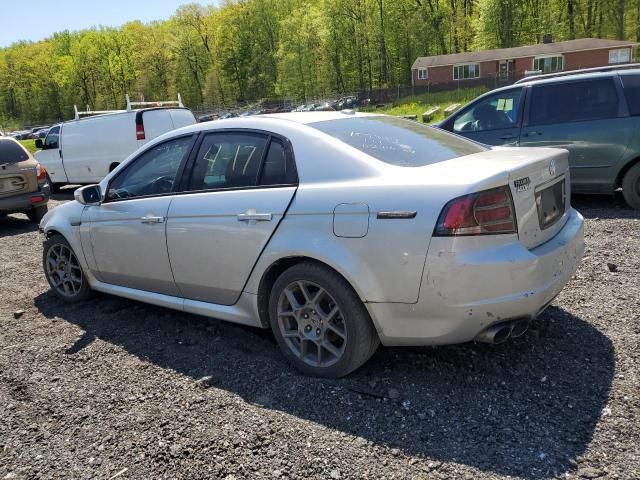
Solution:
M 170 107 L 168 104 L 175 104 Z M 143 106 L 146 108 L 134 109 Z M 129 102 L 127 109 L 78 112 L 74 120 L 54 125 L 35 157 L 49 174 L 52 188 L 98 183 L 148 141 L 196 119 L 178 102 Z

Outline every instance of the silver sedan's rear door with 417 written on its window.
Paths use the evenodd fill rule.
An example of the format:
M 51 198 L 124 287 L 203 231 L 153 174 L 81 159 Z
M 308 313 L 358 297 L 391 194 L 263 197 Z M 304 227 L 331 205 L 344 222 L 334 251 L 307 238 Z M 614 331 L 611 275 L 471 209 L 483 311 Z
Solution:
M 232 305 L 296 191 L 292 149 L 261 133 L 210 133 L 184 185 L 167 219 L 176 284 L 187 299 Z

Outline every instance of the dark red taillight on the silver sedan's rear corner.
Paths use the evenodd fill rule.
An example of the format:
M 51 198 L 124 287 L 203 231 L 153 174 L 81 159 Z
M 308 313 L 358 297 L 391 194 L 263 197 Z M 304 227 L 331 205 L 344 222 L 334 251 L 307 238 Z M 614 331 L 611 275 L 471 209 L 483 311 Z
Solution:
M 516 216 L 509 187 L 498 187 L 451 200 L 438 218 L 435 235 L 516 233 Z

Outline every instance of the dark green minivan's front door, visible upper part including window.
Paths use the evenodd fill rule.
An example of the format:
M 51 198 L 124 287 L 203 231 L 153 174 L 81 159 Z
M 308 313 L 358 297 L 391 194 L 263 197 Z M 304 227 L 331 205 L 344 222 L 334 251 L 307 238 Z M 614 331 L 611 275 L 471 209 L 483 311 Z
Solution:
M 523 93 L 515 87 L 483 97 L 445 122 L 447 130 L 488 145 L 517 145 Z

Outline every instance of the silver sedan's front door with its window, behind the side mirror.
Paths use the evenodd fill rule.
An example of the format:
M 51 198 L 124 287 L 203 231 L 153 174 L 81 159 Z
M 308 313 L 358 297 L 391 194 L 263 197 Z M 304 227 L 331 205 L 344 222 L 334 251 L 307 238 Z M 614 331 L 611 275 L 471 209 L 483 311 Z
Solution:
M 105 201 L 88 207 L 99 280 L 177 295 L 165 222 L 175 179 L 192 145 L 193 136 L 187 135 L 145 150 L 109 182 Z

